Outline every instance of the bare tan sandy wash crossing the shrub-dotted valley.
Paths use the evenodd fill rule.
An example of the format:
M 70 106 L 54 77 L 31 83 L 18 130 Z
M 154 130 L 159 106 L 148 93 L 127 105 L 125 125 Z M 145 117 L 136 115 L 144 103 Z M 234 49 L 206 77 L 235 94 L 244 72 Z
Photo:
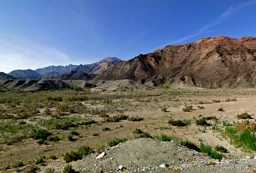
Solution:
M 256 91 L 256 90 L 255 90 Z M 236 146 L 231 145 L 229 139 L 221 136 L 220 132 L 214 132 L 212 126 L 207 126 L 205 133 L 201 132 L 204 126 L 198 126 L 195 124 L 195 119 L 199 119 L 199 115 L 205 116 L 216 116 L 220 121 L 218 126 L 222 129 L 225 127 L 222 125 L 222 121 L 229 122 L 233 124 L 237 123 L 237 114 L 247 112 L 253 117 L 256 111 L 256 97 L 255 91 L 253 89 L 240 91 L 220 91 L 220 90 L 199 90 L 198 95 L 194 96 L 182 96 L 176 95 L 172 98 L 162 97 L 162 96 L 152 96 L 150 102 L 146 102 L 147 98 L 142 98 L 141 100 L 127 99 L 127 104 L 123 108 L 119 107 L 118 111 L 112 111 L 109 113 L 110 116 L 118 115 L 119 113 L 124 113 L 129 116 L 141 116 L 144 117 L 143 121 L 132 122 L 128 120 L 122 120 L 118 123 L 100 123 L 98 125 L 94 124 L 88 129 L 77 128 L 77 132 L 82 134 L 84 137 L 76 138 L 75 141 L 71 142 L 68 140 L 61 140 L 58 144 L 51 145 L 38 145 L 35 140 L 29 140 L 20 142 L 18 144 L 6 146 L 1 145 L 6 148 L 4 151 L 0 151 L 0 164 L 14 164 L 17 161 L 22 161 L 26 164 L 34 163 L 36 158 L 40 155 L 56 155 L 60 159 L 67 151 L 76 149 L 77 147 L 89 145 L 96 146 L 101 144 L 107 144 L 109 140 L 114 137 L 133 137 L 133 130 L 135 128 L 141 129 L 143 132 L 150 133 L 151 136 L 156 136 L 160 134 L 173 135 L 181 140 L 192 141 L 199 145 L 200 142 L 204 144 L 209 144 L 212 146 L 221 145 L 226 147 L 230 153 L 226 154 L 227 158 L 245 158 L 247 156 L 254 155 L 255 153 L 245 153 L 243 149 L 238 149 Z M 193 92 L 193 94 L 197 93 Z M 236 98 L 236 101 L 225 102 L 226 99 Z M 157 102 L 153 102 L 157 99 Z M 176 100 L 175 100 L 176 99 Z M 221 100 L 220 103 L 207 103 L 212 102 L 212 100 Z M 119 100 L 114 100 L 117 102 Z M 199 104 L 199 102 L 204 102 L 207 104 Z M 85 106 L 97 107 L 99 109 L 106 109 L 105 106 L 95 104 L 94 106 L 84 102 Z M 185 105 L 192 105 L 192 112 L 183 112 L 182 109 Z M 205 109 L 199 109 L 197 106 L 203 106 Z M 161 112 L 162 107 L 167 108 L 167 112 Z M 224 111 L 218 111 L 218 108 L 224 108 Z M 106 112 L 108 113 L 108 112 Z M 93 119 L 98 119 L 98 115 L 88 115 Z M 187 127 L 176 127 L 171 126 L 167 122 L 172 118 L 178 119 L 189 119 L 191 120 L 191 125 Z M 254 120 L 250 120 L 254 121 Z M 209 120 L 208 123 L 214 124 L 214 120 Z M 122 127 L 120 127 L 120 125 Z M 108 127 L 111 130 L 102 131 L 102 128 Z M 69 134 L 69 130 L 63 130 L 59 134 L 59 137 L 63 134 Z M 98 136 L 93 136 L 93 133 L 99 133 Z

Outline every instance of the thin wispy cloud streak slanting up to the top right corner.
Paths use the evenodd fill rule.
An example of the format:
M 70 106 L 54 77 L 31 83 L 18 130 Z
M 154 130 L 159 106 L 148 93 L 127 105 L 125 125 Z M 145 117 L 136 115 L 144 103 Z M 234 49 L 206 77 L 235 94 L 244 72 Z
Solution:
M 229 20 L 230 17 L 238 10 L 245 9 L 246 7 L 249 7 L 249 6 L 252 6 L 255 4 L 256 4 L 256 0 L 251 0 L 251 1 L 247 1 L 247 2 L 243 2 L 243 3 L 239 3 L 237 5 L 230 6 L 229 9 L 224 11 L 220 16 L 218 16 L 218 18 L 214 22 L 208 24 L 207 26 L 200 28 L 196 33 L 193 33 L 192 35 L 183 37 L 183 38 L 175 40 L 175 41 L 171 41 L 168 44 L 162 45 L 160 48 L 165 47 L 166 45 L 180 43 L 182 41 L 191 39 L 192 37 L 201 35 L 202 33 L 209 32 L 208 29 L 210 29 L 214 26 L 217 26 L 218 24 L 225 22 L 226 20 Z

